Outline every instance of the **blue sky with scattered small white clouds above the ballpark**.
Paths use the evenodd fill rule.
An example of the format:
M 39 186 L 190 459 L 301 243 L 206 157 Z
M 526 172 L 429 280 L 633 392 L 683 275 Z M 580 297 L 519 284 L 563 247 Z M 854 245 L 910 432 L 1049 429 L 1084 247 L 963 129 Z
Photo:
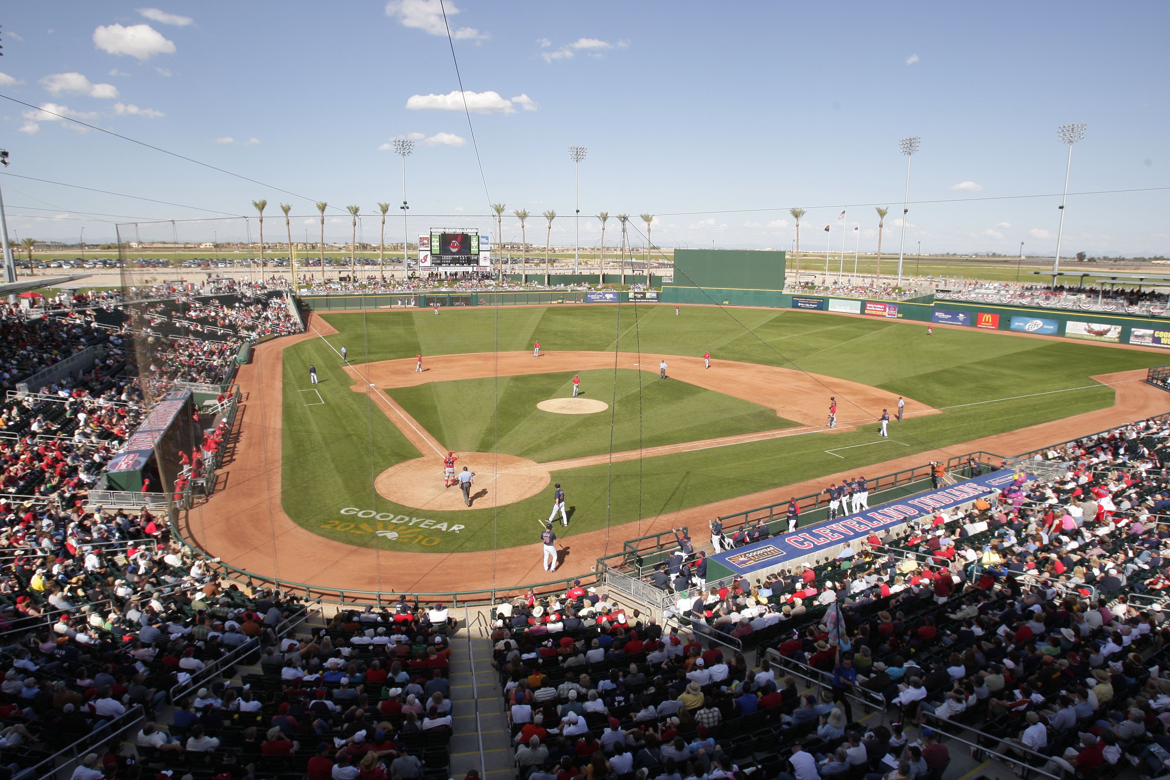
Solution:
M 264 182 L 0 101 L 7 173 L 183 205 L 0 177 L 9 229 L 75 241 L 84 226 L 89 242 L 111 237 L 115 221 L 139 221 L 144 239 L 222 241 L 243 237 L 242 220 L 178 220 L 252 214 L 266 198 L 269 215 L 280 201 L 298 215 L 315 213 L 315 200 L 359 205 L 362 235 L 376 241 L 374 203 L 400 215 L 400 160 L 380 149 L 394 137 L 417 139 L 412 235 L 487 229 L 486 179 L 491 201 L 534 213 L 535 243 L 549 208 L 562 215 L 552 241 L 572 240 L 571 144 L 589 147 L 583 215 L 656 214 L 654 241 L 668 247 L 790 249 L 786 209 L 799 206 L 801 249 L 824 251 L 824 226 L 838 244 L 837 215 L 859 205 L 847 209 L 846 246 L 858 225 L 872 249 L 869 203 L 883 203 L 883 248 L 896 251 L 897 140 L 911 134 L 922 137 L 911 201 L 952 201 L 911 205 L 907 241 L 923 251 L 1014 253 L 1024 241 L 1027 254 L 1051 255 L 1059 196 L 1006 198 L 1060 192 L 1064 123 L 1088 124 L 1072 192 L 1170 186 L 1165 4 L 446 8 L 483 179 L 462 101 L 450 99 L 459 84 L 438 0 L 9 8 L 0 94 Z M 1072 196 L 1062 254 L 1170 254 L 1168 192 Z M 780 210 L 749 210 L 769 208 Z M 171 219 L 173 230 L 145 225 Z M 294 225 L 316 235 L 315 218 Z M 388 235 L 401 235 L 400 216 L 392 225 Z M 596 221 L 580 228 L 581 243 L 596 244 Z M 331 208 L 326 239 L 349 232 Z M 505 239 L 518 233 L 505 222 Z M 611 221 L 606 243 L 615 236 Z

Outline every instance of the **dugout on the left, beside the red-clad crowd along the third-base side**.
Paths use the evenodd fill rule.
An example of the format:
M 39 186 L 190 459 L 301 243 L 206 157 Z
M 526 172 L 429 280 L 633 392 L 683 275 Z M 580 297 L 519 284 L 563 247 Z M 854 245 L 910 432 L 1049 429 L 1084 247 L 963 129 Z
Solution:
M 97 490 L 139 492 L 150 478 L 149 492 L 171 492 L 181 471 L 179 454 L 202 442 L 191 391 L 165 393 L 126 440 L 125 448 L 106 464 Z

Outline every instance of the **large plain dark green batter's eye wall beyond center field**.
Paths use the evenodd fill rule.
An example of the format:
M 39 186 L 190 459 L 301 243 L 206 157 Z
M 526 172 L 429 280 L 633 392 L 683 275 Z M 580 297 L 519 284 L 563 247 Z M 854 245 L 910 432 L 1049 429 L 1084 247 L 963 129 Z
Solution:
M 674 278 L 662 284 L 661 303 L 785 306 L 784 251 L 676 249 Z

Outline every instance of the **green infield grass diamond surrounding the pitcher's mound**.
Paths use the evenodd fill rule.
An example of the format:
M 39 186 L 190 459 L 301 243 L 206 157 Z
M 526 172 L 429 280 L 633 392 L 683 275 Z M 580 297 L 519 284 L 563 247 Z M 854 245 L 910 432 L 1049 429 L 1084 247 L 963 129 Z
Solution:
M 613 371 L 579 375 L 583 396 L 611 409 L 570 415 L 536 408 L 539 401 L 571 396 L 572 373 L 501 377 L 498 386 L 494 379 L 464 379 L 388 392 L 445 447 L 490 453 L 498 441 L 498 451 L 538 463 L 608 453 L 611 421 L 615 453 L 797 424 L 757 403 L 682 381 L 658 381 L 656 373 L 621 368 L 617 387 Z

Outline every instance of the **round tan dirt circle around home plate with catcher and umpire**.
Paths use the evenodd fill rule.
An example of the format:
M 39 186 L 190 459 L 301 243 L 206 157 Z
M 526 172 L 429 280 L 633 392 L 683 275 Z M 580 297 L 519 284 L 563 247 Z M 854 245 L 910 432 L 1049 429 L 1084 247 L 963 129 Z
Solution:
M 490 509 L 514 504 L 537 495 L 549 484 L 549 472 L 539 463 L 514 455 L 460 453 L 455 471 L 468 467 L 475 472 L 472 505 L 463 503 L 457 486 L 443 488 L 442 460 L 417 457 L 397 463 L 374 481 L 383 497 L 402 506 L 434 511 Z

